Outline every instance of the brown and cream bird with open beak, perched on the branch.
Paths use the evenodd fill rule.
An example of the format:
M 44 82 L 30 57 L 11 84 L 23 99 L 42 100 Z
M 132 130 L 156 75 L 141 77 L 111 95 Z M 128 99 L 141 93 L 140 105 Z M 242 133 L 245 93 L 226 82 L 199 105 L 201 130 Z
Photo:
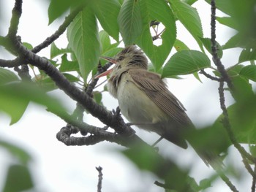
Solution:
M 161 76 L 148 71 L 148 59 L 143 51 L 129 45 L 113 58 L 102 58 L 115 66 L 97 78 L 110 75 L 108 91 L 118 100 L 121 114 L 138 128 L 153 131 L 161 138 L 187 149 L 184 132 L 195 130 L 195 126 L 181 101 L 168 90 Z M 196 152 L 206 165 L 217 156 L 209 151 Z

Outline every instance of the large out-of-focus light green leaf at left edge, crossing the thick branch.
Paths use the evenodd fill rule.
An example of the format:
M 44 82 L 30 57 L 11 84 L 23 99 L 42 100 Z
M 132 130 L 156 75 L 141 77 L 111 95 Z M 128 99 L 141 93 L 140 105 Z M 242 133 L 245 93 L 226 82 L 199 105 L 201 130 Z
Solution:
M 48 107 L 48 110 L 56 115 L 66 115 L 66 109 L 59 100 L 48 96 L 34 83 L 17 82 L 1 85 L 0 98 L 0 110 L 11 116 L 11 124 L 20 120 L 29 101 Z

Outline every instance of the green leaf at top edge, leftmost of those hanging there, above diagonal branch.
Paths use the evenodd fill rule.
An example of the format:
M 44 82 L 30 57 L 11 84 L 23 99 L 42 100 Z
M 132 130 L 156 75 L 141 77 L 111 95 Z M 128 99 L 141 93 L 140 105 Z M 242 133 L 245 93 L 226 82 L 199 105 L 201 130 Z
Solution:
M 85 6 L 87 1 L 88 0 L 51 0 L 48 7 L 48 25 L 50 25 L 50 23 L 53 23 L 56 18 L 61 17 L 61 15 L 63 15 L 64 12 L 67 12 L 69 8 L 76 6 Z

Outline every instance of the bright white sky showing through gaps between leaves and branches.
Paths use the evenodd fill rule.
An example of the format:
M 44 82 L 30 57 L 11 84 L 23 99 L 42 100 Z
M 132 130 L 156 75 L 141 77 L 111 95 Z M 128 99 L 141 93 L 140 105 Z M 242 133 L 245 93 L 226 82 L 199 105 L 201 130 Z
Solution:
M 1 10 L 4 10 L 5 23 L 1 22 L 0 35 L 7 33 L 10 14 L 14 1 L 1 0 Z M 48 26 L 47 6 L 45 2 L 35 0 L 23 1 L 23 14 L 20 19 L 18 34 L 23 42 L 30 42 L 38 45 L 59 26 L 54 22 Z M 205 37 L 210 37 L 210 7 L 204 1 L 195 4 L 203 23 Z M 223 45 L 230 37 L 228 28 L 217 25 L 217 41 Z M 195 40 L 187 34 L 186 30 L 178 25 L 178 39 L 184 40 L 192 49 L 198 49 Z M 65 36 L 56 41 L 57 46 L 66 47 Z M 43 50 L 39 55 L 48 56 L 48 50 Z M 237 50 L 227 50 L 222 58 L 223 64 L 235 64 L 238 58 Z M 232 54 L 232 58 L 230 55 Z M 0 52 L 0 58 L 7 58 L 6 54 Z M 201 76 L 202 77 L 202 76 Z M 217 93 L 217 83 L 206 80 L 202 77 L 203 83 L 195 80 L 195 77 L 184 76 L 184 80 L 168 80 L 170 91 L 172 91 L 187 108 L 187 113 L 197 126 L 205 126 L 212 123 L 221 112 L 219 110 L 219 97 Z M 72 110 L 75 102 L 64 95 L 62 91 L 54 91 L 53 95 L 60 98 L 67 107 Z M 103 94 L 104 103 L 109 110 L 116 109 L 117 101 L 107 93 Z M 232 100 L 227 99 L 230 103 Z M 102 191 L 105 192 L 128 192 L 128 191 L 163 191 L 162 188 L 154 185 L 153 176 L 148 173 L 138 172 L 129 160 L 117 153 L 116 149 L 122 149 L 115 144 L 102 142 L 94 146 L 67 147 L 56 139 L 56 133 L 62 126 L 62 120 L 55 115 L 45 111 L 37 104 L 29 104 L 29 108 L 23 118 L 13 126 L 9 126 L 10 118 L 0 113 L 0 140 L 13 142 L 20 147 L 24 147 L 31 153 L 34 161 L 31 163 L 31 170 L 34 173 L 37 191 L 97 191 L 98 172 L 95 166 L 102 166 L 103 181 Z M 95 124 L 91 116 L 86 116 L 86 122 Z M 98 123 L 97 123 L 98 125 Z M 148 134 L 135 128 L 137 134 L 143 137 L 148 143 L 153 143 L 158 137 L 156 134 Z M 167 146 L 167 147 L 166 147 Z M 170 156 L 175 161 L 179 161 L 184 166 L 195 164 L 192 169 L 192 176 L 196 177 L 197 182 L 208 176 L 211 169 L 208 169 L 203 161 L 200 160 L 192 149 L 182 150 L 172 145 L 170 142 L 162 141 L 159 144 L 159 151 L 165 156 Z M 234 150 L 231 150 L 237 158 L 233 158 L 233 163 L 241 166 L 241 158 Z M 0 188 L 4 183 L 4 176 L 7 164 L 12 162 L 12 157 L 0 148 Z M 235 160 L 234 160 L 235 159 Z M 239 164 L 238 164 L 239 163 Z M 235 183 L 236 180 L 234 181 Z M 251 187 L 251 179 L 246 175 L 241 183 L 240 189 L 248 191 Z M 230 191 L 226 185 L 220 181 L 214 188 L 208 191 Z

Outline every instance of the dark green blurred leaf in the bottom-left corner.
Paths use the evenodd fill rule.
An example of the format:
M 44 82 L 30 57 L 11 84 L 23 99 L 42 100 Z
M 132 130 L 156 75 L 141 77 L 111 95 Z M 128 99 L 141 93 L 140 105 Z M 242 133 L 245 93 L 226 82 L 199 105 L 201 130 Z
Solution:
M 27 166 L 12 165 L 8 169 L 3 192 L 20 192 L 31 190 L 34 182 Z

